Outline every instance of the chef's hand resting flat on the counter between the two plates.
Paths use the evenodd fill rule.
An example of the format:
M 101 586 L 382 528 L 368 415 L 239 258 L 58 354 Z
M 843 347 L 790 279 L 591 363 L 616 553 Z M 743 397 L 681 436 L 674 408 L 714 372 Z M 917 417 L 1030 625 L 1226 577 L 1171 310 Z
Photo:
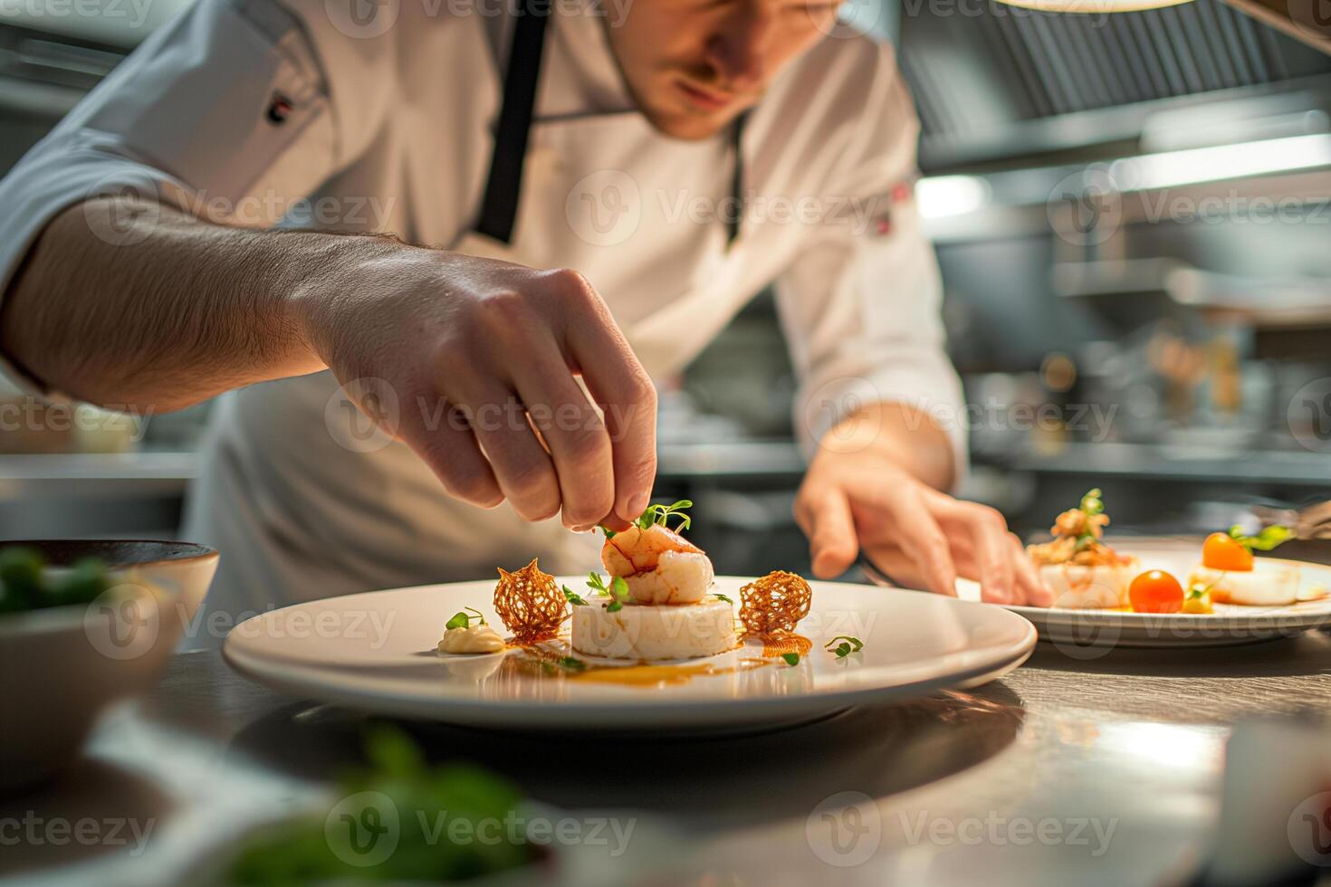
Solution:
M 896 404 L 870 410 L 874 420 L 866 424 L 876 434 L 855 442 L 853 432 L 829 432 L 824 440 L 837 443 L 820 447 L 796 496 L 795 517 L 809 539 L 815 576 L 840 576 L 862 549 L 906 586 L 954 597 L 957 576 L 964 576 L 980 581 L 986 601 L 1049 606 L 1053 594 L 1002 515 L 941 493 L 905 467 L 912 448 L 948 452 L 937 426 L 925 416 L 900 422 Z M 893 434 L 901 428 L 912 431 Z

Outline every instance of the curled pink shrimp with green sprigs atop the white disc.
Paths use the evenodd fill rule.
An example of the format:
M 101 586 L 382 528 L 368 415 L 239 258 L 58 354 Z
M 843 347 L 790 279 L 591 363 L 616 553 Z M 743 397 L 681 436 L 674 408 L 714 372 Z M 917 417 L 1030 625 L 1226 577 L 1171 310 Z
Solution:
M 696 604 L 715 578 L 712 561 L 701 548 L 666 527 L 664 517 L 677 515 L 677 509 L 654 508 L 628 529 L 608 535 L 600 563 L 611 576 L 624 580 L 639 604 Z

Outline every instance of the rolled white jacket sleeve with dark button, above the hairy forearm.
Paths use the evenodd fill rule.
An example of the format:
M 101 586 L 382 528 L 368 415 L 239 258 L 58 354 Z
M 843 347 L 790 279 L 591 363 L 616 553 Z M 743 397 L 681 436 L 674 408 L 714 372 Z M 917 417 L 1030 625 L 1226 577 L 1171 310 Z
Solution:
M 276 223 L 334 170 L 330 117 L 294 15 L 258 0 L 200 0 L 0 181 L 0 294 L 51 219 L 93 197 L 137 194 L 212 221 Z M 89 225 L 124 235 L 113 218 L 89 215 Z M 0 368 L 41 394 L 15 367 Z

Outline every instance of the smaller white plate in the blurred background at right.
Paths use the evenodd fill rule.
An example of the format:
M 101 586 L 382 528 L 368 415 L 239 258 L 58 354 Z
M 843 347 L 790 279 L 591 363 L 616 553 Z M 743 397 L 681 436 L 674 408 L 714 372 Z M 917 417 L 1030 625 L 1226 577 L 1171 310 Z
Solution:
M 1186 584 L 1187 576 L 1202 557 L 1202 540 L 1111 540 L 1125 555 L 1135 555 L 1142 570 L 1163 569 Z M 1239 606 L 1217 604 L 1214 614 L 1205 613 L 1131 613 L 1109 609 L 1067 609 L 1051 606 L 1009 606 L 1029 618 L 1041 641 L 1087 658 L 1101 656 L 1114 646 L 1236 646 L 1304 632 L 1331 628 L 1331 568 L 1320 564 L 1262 557 L 1263 561 L 1299 568 L 1299 596 L 1304 600 L 1287 606 Z M 957 580 L 957 593 L 964 600 L 978 601 L 980 586 L 970 580 Z

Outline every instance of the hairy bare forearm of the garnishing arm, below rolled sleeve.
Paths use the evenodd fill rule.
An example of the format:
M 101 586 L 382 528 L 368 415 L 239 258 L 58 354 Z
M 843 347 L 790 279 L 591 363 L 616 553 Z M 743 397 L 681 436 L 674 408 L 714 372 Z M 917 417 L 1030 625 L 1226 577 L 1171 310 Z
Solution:
M 9 286 L 0 347 L 53 391 L 156 412 L 314 372 L 290 294 L 355 239 L 224 227 L 132 198 L 76 205 Z

